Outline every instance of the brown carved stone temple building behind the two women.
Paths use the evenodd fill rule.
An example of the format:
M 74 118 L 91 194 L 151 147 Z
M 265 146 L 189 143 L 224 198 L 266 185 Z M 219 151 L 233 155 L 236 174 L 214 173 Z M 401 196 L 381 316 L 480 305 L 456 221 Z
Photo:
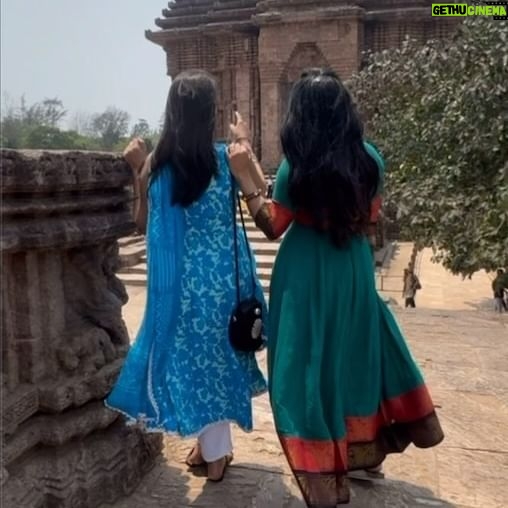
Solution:
M 175 0 L 146 37 L 167 54 L 167 72 L 192 68 L 220 83 L 217 136 L 237 107 L 249 119 L 266 169 L 280 158 L 278 130 L 291 84 L 310 66 L 343 79 L 365 51 L 448 36 L 457 18 L 433 18 L 430 0 Z

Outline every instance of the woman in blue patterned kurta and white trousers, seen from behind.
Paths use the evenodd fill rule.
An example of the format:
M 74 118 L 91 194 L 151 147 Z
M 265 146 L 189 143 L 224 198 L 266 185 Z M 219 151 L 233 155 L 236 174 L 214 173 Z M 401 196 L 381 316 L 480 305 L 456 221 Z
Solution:
M 190 467 L 207 465 L 220 481 L 232 458 L 231 423 L 252 430 L 252 397 L 266 391 L 254 354 L 229 343 L 236 305 L 233 193 L 225 145 L 214 144 L 216 85 L 205 72 L 172 83 L 161 139 L 146 158 L 134 140 L 138 227 L 146 228 L 145 316 L 109 407 L 148 430 L 197 436 Z M 253 174 L 264 188 L 262 174 Z M 147 199 L 148 198 L 148 199 Z M 252 287 L 249 246 L 238 235 L 240 295 Z M 252 258 L 253 259 L 253 258 Z M 265 312 L 266 315 L 266 312 Z

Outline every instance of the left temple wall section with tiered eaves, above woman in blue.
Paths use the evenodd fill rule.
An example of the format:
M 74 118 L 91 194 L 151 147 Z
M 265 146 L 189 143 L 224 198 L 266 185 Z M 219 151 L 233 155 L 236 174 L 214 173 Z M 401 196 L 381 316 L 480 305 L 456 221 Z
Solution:
M 254 149 L 260 152 L 258 30 L 251 18 L 256 0 L 176 0 L 157 19 L 159 32 L 147 37 L 167 55 L 167 73 L 205 69 L 219 83 L 216 136 L 228 136 L 234 109 L 250 123 Z

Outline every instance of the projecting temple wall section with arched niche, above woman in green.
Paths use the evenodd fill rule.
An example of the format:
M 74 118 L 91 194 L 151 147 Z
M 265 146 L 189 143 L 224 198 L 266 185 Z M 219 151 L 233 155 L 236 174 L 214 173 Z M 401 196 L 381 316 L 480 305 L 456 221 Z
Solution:
M 259 62 L 262 160 L 274 168 L 280 161 L 279 130 L 292 83 L 308 67 L 331 67 L 342 76 L 351 75 L 359 68 L 363 32 L 358 7 L 321 2 L 330 5 L 320 10 L 305 2 L 262 3 L 266 11 L 257 16 L 263 55 Z

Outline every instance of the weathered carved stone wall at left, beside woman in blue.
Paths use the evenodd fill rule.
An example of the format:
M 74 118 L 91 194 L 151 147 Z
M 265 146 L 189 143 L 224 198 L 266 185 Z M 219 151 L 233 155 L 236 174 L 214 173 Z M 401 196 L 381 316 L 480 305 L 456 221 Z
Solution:
M 103 404 L 129 347 L 115 272 L 130 171 L 108 154 L 4 150 L 1 177 L 2 506 L 114 501 L 161 447 Z

